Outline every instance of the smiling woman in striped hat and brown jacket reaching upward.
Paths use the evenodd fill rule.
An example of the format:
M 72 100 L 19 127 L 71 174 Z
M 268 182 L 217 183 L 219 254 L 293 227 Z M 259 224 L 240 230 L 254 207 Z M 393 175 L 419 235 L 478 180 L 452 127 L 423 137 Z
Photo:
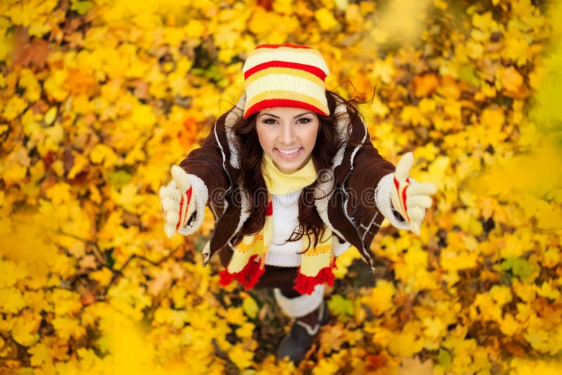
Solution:
M 372 268 L 384 218 L 419 232 L 435 187 L 408 178 L 411 153 L 396 171 L 379 155 L 355 107 L 326 90 L 318 51 L 258 46 L 243 72 L 244 96 L 172 166 L 160 190 L 164 230 L 190 235 L 208 205 L 216 223 L 204 264 L 218 252 L 221 284 L 274 288 L 294 318 L 277 356 L 299 362 L 327 320 L 336 256 L 353 245 Z

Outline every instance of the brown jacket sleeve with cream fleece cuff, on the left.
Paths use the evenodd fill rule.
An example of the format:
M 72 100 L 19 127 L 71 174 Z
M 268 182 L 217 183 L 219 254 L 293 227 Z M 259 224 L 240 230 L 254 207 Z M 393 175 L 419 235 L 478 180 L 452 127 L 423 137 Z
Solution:
M 222 207 L 224 204 L 224 192 L 228 188 L 229 180 L 223 169 L 223 154 L 216 141 L 215 129 L 216 124 L 201 147 L 192 150 L 180 163 L 188 173 L 193 188 L 192 202 L 195 204 L 195 211 L 191 218 L 183 228 L 178 230 L 181 235 L 190 235 L 200 228 L 207 204 L 215 218 L 216 207 Z

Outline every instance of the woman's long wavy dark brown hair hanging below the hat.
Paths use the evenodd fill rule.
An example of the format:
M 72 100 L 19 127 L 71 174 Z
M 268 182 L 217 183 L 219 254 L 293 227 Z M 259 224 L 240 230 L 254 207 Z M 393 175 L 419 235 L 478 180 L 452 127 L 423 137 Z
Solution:
M 318 177 L 321 171 L 327 171 L 333 164 L 336 152 L 341 147 L 342 140 L 339 139 L 336 129 L 336 121 L 345 114 L 334 114 L 336 108 L 336 100 L 344 103 L 348 109 L 350 123 L 347 124 L 348 134 L 351 134 L 351 121 L 356 116 L 360 116 L 355 100 L 345 100 L 333 91 L 326 91 L 326 98 L 329 108 L 329 116 L 318 114 L 320 129 L 316 137 L 316 143 L 312 151 L 312 160 L 317 171 L 316 180 L 304 187 L 299 196 L 299 226 L 294 230 L 288 241 L 296 241 L 304 236 L 311 239 L 311 246 L 315 247 L 325 233 L 325 225 L 318 215 L 314 202 L 315 187 L 320 183 Z M 253 114 L 247 119 L 240 117 L 233 131 L 240 139 L 240 171 L 242 177 L 242 188 L 244 195 L 247 196 L 250 203 L 249 218 L 242 226 L 239 235 L 234 239 L 234 244 L 240 243 L 244 235 L 254 235 L 263 229 L 266 222 L 266 205 L 267 195 L 255 194 L 255 192 L 266 192 L 266 182 L 261 173 L 261 160 L 263 157 L 263 149 L 259 143 L 258 133 L 256 131 L 257 114 Z M 306 250 L 308 250 L 310 246 Z M 306 251 L 305 250 L 305 251 Z

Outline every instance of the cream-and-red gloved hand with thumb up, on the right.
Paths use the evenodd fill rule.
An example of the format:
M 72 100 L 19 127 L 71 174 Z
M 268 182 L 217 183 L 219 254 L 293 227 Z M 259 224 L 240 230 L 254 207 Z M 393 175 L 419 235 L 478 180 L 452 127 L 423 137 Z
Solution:
M 431 195 L 437 189 L 432 183 L 416 183 L 408 175 L 414 164 L 414 155 L 407 152 L 394 171 L 392 204 L 404 220 L 410 224 L 410 230 L 419 235 L 419 227 L 424 219 L 426 209 L 431 207 Z

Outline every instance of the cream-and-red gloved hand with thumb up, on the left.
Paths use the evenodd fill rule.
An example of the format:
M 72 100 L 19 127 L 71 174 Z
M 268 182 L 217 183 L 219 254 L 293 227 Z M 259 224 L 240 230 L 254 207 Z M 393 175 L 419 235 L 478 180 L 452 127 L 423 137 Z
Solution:
M 192 187 L 188 173 L 181 166 L 171 167 L 172 180 L 160 187 L 160 202 L 164 211 L 164 232 L 172 237 L 190 218 L 195 204 L 192 204 Z

